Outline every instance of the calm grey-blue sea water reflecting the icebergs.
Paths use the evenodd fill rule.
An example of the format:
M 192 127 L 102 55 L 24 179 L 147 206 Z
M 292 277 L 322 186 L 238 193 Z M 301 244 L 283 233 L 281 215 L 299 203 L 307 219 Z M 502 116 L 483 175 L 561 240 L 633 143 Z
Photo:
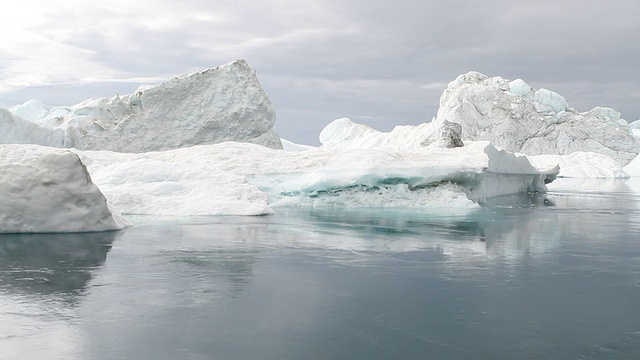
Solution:
M 0 359 L 640 359 L 637 180 L 132 221 L 0 236 Z

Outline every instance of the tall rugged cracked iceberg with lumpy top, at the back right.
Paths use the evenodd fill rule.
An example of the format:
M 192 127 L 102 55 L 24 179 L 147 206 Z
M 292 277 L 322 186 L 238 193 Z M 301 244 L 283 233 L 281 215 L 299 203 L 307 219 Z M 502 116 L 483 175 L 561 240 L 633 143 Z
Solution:
M 640 153 L 620 113 L 605 107 L 579 113 L 559 94 L 477 72 L 458 76 L 440 97 L 435 122 L 462 125 L 462 140 L 487 140 L 527 155 L 595 152 L 624 166 Z

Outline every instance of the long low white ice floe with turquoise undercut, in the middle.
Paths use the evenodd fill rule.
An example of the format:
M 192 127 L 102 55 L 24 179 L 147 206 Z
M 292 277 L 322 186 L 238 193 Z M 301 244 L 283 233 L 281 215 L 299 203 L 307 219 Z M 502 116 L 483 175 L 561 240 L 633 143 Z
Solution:
M 475 207 L 542 192 L 558 173 L 488 142 L 465 147 L 282 151 L 226 142 L 147 153 L 77 151 L 124 214 L 262 215 L 279 206 Z

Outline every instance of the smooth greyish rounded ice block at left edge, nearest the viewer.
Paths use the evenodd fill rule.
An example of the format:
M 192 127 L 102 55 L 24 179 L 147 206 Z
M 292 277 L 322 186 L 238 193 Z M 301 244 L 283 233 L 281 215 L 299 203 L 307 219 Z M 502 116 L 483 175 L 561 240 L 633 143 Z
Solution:
M 71 151 L 0 145 L 0 233 L 88 232 L 127 226 Z

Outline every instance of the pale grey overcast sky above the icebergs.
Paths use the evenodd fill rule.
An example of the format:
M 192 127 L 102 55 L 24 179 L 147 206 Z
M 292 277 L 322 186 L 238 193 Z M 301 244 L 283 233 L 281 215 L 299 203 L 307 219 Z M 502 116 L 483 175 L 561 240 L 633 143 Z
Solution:
M 634 0 L 3 1 L 0 103 L 73 105 L 244 58 L 301 143 L 339 117 L 430 121 L 470 70 L 633 121 L 639 14 Z

